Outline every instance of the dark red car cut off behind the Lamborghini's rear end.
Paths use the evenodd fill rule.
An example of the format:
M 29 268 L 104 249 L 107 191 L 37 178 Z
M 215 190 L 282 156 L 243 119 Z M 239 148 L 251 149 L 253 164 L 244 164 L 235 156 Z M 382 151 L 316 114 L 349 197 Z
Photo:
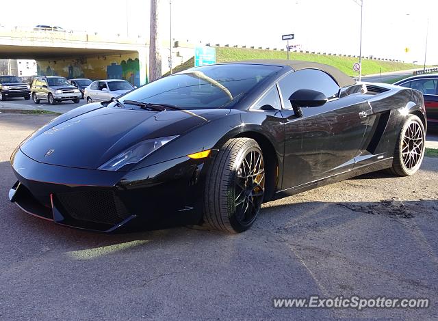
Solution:
M 438 128 L 438 74 L 422 74 L 394 83 L 423 93 L 428 124 Z

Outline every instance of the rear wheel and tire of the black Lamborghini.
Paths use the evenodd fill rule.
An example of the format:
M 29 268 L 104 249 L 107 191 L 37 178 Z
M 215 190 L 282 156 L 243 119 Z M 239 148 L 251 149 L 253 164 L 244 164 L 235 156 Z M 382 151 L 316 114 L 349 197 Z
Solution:
M 396 176 L 415 174 L 422 165 L 426 132 L 420 118 L 409 115 L 398 135 L 392 167 L 389 173 Z

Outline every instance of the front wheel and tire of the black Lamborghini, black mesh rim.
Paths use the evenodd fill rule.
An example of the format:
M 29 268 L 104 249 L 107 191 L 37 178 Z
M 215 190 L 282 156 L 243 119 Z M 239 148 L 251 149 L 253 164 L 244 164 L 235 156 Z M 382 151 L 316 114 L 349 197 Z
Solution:
M 265 191 L 263 154 L 249 138 L 230 139 L 207 171 L 204 222 L 211 229 L 244 232 L 253 225 Z

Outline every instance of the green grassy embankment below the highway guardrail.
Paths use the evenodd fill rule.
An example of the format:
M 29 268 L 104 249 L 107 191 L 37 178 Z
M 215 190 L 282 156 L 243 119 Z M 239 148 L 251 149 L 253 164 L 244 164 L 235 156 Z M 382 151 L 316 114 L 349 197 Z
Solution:
M 216 47 L 216 61 L 239 61 L 249 59 L 287 59 L 285 51 L 250 49 L 250 48 L 229 48 Z M 327 64 L 342 70 L 350 76 L 357 76 L 357 72 L 352 70 L 353 64 L 359 61 L 359 58 L 354 57 L 339 57 L 333 55 L 316 55 L 311 53 L 289 53 L 289 59 L 315 61 L 321 64 Z M 185 61 L 185 63 L 175 67 L 174 72 L 179 72 L 194 66 L 194 58 Z M 362 74 L 378 74 L 379 72 L 391 72 L 397 70 L 408 70 L 421 68 L 415 64 L 405 64 L 394 61 L 381 60 L 362 60 Z

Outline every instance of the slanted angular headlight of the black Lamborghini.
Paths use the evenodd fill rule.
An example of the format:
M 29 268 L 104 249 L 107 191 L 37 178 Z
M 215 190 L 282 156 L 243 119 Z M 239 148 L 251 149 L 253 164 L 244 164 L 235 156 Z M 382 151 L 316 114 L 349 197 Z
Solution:
M 143 158 L 177 137 L 178 136 L 168 136 L 140 141 L 140 143 L 136 143 L 136 145 L 131 146 L 125 150 L 125 152 L 118 154 L 98 169 L 117 171 L 125 165 L 138 163 Z

